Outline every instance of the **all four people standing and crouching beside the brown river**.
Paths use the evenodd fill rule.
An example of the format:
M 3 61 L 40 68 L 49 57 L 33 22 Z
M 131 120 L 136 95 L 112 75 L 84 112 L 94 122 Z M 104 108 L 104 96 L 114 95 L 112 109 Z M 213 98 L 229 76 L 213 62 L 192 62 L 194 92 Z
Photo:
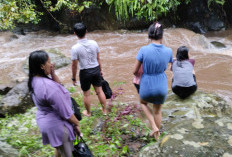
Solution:
M 76 85 L 77 65 L 86 110 L 83 115 L 91 116 L 90 87 L 93 85 L 102 105 L 102 113 L 107 114 L 106 97 L 101 87 L 102 68 L 100 51 L 96 41 L 86 38 L 87 28 L 83 23 L 74 25 L 78 42 L 71 48 L 72 82 Z M 143 46 L 136 57 L 133 83 L 140 96 L 141 107 L 148 118 L 152 132 L 158 139 L 161 127 L 161 107 L 167 92 L 165 70 L 172 64 L 172 90 L 181 98 L 186 98 L 197 89 L 193 59 L 189 59 L 188 48 L 177 50 L 173 61 L 172 49 L 162 44 L 163 27 L 155 22 L 148 29 L 149 45 Z M 72 110 L 69 92 L 62 86 L 55 74 L 54 65 L 45 51 L 34 51 L 29 56 L 28 87 L 37 107 L 36 121 L 42 134 L 43 144 L 55 148 L 55 156 L 71 157 L 76 134 L 80 135 L 79 121 Z M 147 105 L 153 104 L 153 112 Z

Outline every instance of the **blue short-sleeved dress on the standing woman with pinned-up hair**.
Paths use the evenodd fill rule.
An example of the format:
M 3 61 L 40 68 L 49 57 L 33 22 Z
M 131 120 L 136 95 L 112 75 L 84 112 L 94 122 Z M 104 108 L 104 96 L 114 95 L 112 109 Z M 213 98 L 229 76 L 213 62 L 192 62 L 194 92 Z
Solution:
M 137 60 L 143 64 L 140 97 L 154 104 L 162 104 L 167 95 L 167 77 L 164 71 L 172 62 L 172 50 L 161 44 L 151 43 L 140 49 Z

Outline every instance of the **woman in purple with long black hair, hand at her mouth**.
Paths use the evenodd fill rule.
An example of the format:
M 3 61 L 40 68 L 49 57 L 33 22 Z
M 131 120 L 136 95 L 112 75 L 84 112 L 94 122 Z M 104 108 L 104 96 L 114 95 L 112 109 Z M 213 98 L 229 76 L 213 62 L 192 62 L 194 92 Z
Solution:
M 60 84 L 44 51 L 29 56 L 28 87 L 37 107 L 36 121 L 43 144 L 56 148 L 55 156 L 72 157 L 74 129 L 80 134 L 79 121 L 73 114 L 69 92 Z

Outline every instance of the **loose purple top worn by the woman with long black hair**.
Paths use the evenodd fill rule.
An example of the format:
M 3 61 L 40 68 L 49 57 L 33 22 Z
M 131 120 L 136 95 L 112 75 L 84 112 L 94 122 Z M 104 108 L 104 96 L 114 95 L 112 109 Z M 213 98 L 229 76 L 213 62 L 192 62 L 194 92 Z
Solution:
M 32 87 L 32 99 L 38 109 L 36 121 L 43 144 L 52 147 L 62 145 L 64 126 L 69 131 L 69 140 L 74 140 L 73 126 L 68 122 L 73 114 L 69 92 L 59 83 L 45 77 L 34 77 Z

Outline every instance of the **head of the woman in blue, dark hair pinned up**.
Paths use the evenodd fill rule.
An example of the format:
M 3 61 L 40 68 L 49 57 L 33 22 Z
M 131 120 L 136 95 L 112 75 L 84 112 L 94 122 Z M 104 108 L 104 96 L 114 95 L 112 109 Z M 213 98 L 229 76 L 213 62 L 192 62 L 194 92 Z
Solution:
M 163 26 L 159 22 L 155 22 L 148 28 L 148 37 L 151 40 L 159 40 L 163 38 Z

